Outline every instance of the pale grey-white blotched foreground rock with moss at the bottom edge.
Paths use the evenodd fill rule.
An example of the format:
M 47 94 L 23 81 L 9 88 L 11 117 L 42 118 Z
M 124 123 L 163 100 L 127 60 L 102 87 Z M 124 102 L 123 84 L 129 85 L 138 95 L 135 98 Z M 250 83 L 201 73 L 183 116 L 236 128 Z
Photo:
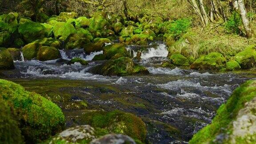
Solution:
M 92 128 L 90 125 L 80 125 L 68 128 L 45 144 L 89 144 L 92 140 L 108 134 L 108 131 L 102 128 Z

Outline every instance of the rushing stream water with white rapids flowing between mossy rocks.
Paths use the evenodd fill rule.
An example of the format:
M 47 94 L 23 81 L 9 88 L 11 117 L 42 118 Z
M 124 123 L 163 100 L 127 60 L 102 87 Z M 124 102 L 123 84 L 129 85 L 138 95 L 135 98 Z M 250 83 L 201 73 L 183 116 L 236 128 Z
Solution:
M 136 56 L 137 46 L 127 49 Z M 68 65 L 64 60 L 15 61 L 16 69 L 1 71 L 0 76 L 38 93 L 42 92 L 41 87 L 51 91 L 54 85 L 64 83 L 58 90 L 70 93 L 73 101 L 86 100 L 88 109 L 119 109 L 136 114 L 147 124 L 147 140 L 151 143 L 188 142 L 200 128 L 211 123 L 216 110 L 239 84 L 256 77 L 253 71 L 216 73 L 161 68 L 160 62 L 167 60 L 168 54 L 161 42 L 149 44 L 142 52 L 140 64 L 148 68 L 148 76 L 94 75 L 89 69 L 104 61 L 92 58 L 102 52 L 85 55 L 83 49 L 75 49 L 60 53 L 64 60 L 80 57 L 88 60 L 89 65 Z M 67 127 L 79 124 L 74 119 L 82 110 L 59 106 L 66 116 Z

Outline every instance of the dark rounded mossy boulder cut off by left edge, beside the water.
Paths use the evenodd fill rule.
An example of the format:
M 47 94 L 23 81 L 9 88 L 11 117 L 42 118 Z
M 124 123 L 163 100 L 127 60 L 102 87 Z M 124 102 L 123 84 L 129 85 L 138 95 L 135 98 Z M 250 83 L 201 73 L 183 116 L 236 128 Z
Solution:
M 14 69 L 12 55 L 6 48 L 0 48 L 0 70 Z

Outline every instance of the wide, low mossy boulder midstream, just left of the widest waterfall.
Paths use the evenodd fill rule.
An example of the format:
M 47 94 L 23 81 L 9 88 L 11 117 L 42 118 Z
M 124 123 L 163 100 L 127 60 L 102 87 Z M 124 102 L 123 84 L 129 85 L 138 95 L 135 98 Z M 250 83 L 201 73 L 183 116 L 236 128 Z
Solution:
M 103 76 L 128 76 L 134 74 L 149 74 L 147 68 L 134 64 L 128 57 L 120 57 L 116 60 L 108 60 L 90 70 L 94 74 Z

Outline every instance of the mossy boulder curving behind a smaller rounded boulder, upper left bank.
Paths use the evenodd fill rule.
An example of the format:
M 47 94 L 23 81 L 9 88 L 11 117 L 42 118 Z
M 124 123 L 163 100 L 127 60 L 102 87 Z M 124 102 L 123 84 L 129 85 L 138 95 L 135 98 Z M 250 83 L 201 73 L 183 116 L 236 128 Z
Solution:
M 48 46 L 59 49 L 61 44 L 59 40 L 53 38 L 44 38 L 43 40 L 36 40 L 32 43 L 25 45 L 22 48 L 23 56 L 25 60 L 31 60 L 37 57 L 37 52 L 40 47 Z

